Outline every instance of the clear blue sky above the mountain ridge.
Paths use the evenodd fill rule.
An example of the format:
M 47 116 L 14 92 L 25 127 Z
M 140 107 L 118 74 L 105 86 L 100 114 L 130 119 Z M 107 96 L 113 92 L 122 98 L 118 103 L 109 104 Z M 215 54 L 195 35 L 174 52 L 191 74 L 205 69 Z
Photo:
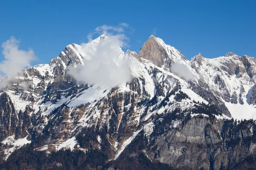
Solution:
M 187 59 L 228 51 L 256 57 L 255 0 L 2 0 L 0 16 L 0 43 L 15 36 L 21 49 L 35 51 L 33 64 L 48 63 L 68 44 L 87 42 L 97 26 L 119 23 L 134 28 L 125 33 L 131 51 L 139 52 L 155 31 Z

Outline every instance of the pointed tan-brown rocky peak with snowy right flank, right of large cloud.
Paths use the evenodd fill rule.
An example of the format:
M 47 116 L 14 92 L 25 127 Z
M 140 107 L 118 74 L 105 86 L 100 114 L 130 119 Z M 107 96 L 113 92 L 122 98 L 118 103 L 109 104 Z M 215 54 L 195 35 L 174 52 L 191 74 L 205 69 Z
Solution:
M 166 65 L 170 68 L 172 62 L 186 60 L 186 57 L 177 49 L 170 45 L 166 45 L 162 39 L 151 35 L 143 44 L 139 52 L 140 56 L 152 61 L 158 67 Z

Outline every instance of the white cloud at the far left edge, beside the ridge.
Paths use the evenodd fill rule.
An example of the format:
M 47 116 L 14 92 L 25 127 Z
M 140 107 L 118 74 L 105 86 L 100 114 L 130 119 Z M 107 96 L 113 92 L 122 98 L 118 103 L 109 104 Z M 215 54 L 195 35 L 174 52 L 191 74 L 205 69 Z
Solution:
M 6 76 L 0 82 L 0 88 L 5 87 L 9 81 L 12 81 L 26 67 L 30 66 L 30 62 L 34 60 L 34 51 L 29 49 L 23 51 L 19 49 L 20 41 L 15 37 L 11 37 L 6 42 L 3 42 L 3 55 L 5 60 L 0 63 L 0 72 Z

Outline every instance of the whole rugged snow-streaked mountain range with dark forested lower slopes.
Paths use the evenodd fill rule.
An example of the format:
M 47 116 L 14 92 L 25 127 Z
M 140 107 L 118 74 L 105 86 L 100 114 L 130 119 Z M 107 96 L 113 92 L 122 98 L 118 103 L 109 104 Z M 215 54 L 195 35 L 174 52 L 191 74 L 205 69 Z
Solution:
M 1 92 L 1 169 L 255 166 L 255 58 L 187 60 L 150 36 L 138 54 L 116 56 L 130 59 L 129 82 L 109 87 L 68 74 L 108 38 L 67 45 Z

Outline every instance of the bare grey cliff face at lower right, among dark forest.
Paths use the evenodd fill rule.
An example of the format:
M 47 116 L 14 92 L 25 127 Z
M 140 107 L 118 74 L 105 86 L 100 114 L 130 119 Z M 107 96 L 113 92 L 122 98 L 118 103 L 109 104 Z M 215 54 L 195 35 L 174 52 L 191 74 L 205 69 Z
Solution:
M 243 122 L 248 126 L 245 127 L 237 122 L 194 117 L 181 127 L 158 134 L 150 143 L 147 154 L 152 160 L 178 169 L 231 168 L 237 160 L 253 153 L 250 151 L 254 149 L 253 144 L 248 142 L 254 138 L 250 132 L 251 123 Z M 233 131 L 239 128 L 240 131 Z

